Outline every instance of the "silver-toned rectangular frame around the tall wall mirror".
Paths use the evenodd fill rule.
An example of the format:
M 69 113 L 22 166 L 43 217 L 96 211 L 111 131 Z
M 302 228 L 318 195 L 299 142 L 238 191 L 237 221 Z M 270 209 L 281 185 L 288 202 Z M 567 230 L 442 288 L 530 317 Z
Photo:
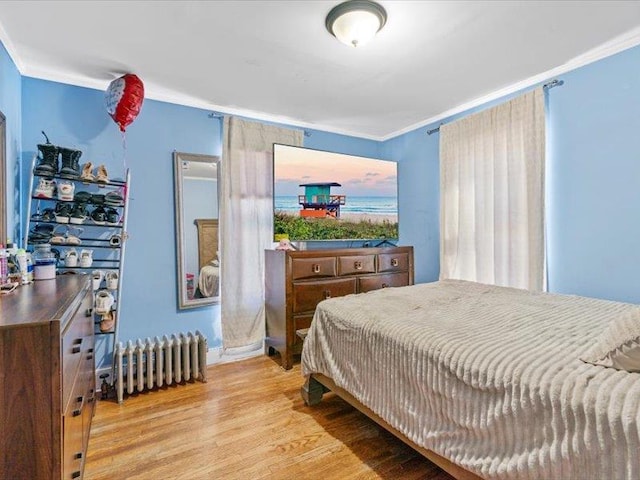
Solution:
M 211 298 L 193 298 L 189 299 L 187 297 L 187 289 L 186 284 L 183 281 L 185 271 L 184 271 L 184 225 L 183 225 L 183 188 L 182 188 L 182 162 L 204 162 L 204 163 L 215 163 L 217 166 L 216 174 L 218 186 L 220 185 L 220 157 L 214 155 L 201 155 L 195 153 L 183 153 L 183 152 L 173 152 L 173 167 L 174 167 L 174 194 L 175 194 L 175 230 L 176 230 L 176 263 L 178 272 L 177 280 L 178 280 L 178 308 L 180 310 L 188 309 L 188 308 L 198 308 L 204 307 L 207 305 L 217 305 L 220 303 L 220 296 L 211 297 Z M 220 189 L 217 188 L 218 195 L 218 206 L 220 205 Z M 219 209 L 219 207 L 218 207 Z M 219 241 L 219 235 L 218 235 Z

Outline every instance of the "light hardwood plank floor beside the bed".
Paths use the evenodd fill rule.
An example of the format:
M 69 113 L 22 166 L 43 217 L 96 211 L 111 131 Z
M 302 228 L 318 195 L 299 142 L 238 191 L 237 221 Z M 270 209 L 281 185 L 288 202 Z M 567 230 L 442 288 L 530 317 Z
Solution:
M 209 367 L 207 383 L 100 401 L 86 480 L 451 480 L 335 395 L 300 397 L 276 356 Z

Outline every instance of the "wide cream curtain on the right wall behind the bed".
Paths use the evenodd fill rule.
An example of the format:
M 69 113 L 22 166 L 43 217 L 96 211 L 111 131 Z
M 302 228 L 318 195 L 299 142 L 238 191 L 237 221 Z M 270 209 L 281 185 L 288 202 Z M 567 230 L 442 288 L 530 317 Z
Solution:
M 544 290 L 544 92 L 440 128 L 440 278 Z

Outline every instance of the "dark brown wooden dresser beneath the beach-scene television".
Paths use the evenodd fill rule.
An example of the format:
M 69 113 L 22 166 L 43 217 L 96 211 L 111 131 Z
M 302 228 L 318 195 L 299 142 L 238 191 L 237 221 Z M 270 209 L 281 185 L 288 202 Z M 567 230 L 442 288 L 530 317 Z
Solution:
M 413 247 L 266 250 L 266 346 L 282 367 L 302 351 L 296 330 L 309 328 L 316 305 L 329 297 L 413 284 Z

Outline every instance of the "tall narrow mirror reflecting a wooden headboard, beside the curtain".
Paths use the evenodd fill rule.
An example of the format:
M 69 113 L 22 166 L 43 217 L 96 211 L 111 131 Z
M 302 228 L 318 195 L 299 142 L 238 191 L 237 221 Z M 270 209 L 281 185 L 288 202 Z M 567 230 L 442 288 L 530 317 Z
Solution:
M 173 153 L 178 308 L 220 301 L 219 157 Z

